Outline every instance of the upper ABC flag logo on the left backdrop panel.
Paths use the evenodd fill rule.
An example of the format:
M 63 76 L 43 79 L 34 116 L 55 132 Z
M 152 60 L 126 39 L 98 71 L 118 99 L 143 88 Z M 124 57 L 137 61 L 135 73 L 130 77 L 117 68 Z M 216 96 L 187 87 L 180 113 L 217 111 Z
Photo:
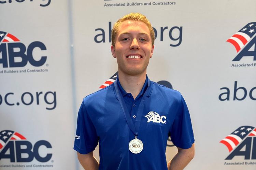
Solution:
M 47 56 L 41 56 L 39 49 L 45 51 L 45 45 L 34 41 L 27 47 L 13 34 L 0 31 L 0 74 L 48 72 Z M 27 65 L 35 67 L 26 68 Z M 38 68 L 39 67 L 39 68 Z M 15 68 L 15 69 L 13 69 Z

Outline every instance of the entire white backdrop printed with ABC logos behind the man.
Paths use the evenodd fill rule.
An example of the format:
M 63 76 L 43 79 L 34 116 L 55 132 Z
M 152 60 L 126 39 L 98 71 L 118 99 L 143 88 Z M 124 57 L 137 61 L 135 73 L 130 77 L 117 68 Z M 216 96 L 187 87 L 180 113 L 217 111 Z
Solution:
M 82 169 L 78 109 L 116 80 L 111 29 L 131 12 L 154 27 L 148 78 L 189 108 L 196 154 L 185 169 L 256 169 L 254 0 L 0 0 L 0 169 Z

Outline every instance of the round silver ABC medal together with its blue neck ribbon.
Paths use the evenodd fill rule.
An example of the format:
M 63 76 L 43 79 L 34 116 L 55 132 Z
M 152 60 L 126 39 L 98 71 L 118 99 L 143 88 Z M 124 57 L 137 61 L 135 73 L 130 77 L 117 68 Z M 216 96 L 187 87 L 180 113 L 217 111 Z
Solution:
M 141 122 L 141 118 L 142 118 L 142 112 L 143 112 L 143 107 L 144 107 L 144 104 L 145 104 L 145 99 L 146 97 L 150 94 L 150 80 L 148 79 L 148 86 L 147 86 L 147 90 L 146 92 L 144 93 L 142 99 L 141 99 L 141 103 L 139 105 L 139 108 L 138 108 L 138 113 L 137 113 L 137 118 L 135 120 L 135 124 L 132 122 L 132 119 L 130 117 L 130 114 L 128 113 L 128 109 L 126 107 L 126 104 L 125 104 L 125 101 L 119 91 L 119 88 L 117 86 L 117 81 L 114 82 L 114 88 L 115 88 L 115 91 L 116 91 L 116 95 L 117 95 L 117 98 L 118 98 L 118 101 L 122 107 L 122 110 L 124 112 L 124 115 L 125 115 L 125 119 L 126 119 L 126 122 L 130 128 L 130 130 L 133 132 L 134 136 L 135 136 L 135 139 L 132 139 L 130 142 L 129 142 L 129 150 L 134 153 L 134 154 L 137 154 L 137 153 L 140 153 L 143 149 L 143 143 L 140 139 L 137 139 L 137 136 L 138 136 L 138 132 L 139 132 L 139 128 L 140 128 L 140 122 Z

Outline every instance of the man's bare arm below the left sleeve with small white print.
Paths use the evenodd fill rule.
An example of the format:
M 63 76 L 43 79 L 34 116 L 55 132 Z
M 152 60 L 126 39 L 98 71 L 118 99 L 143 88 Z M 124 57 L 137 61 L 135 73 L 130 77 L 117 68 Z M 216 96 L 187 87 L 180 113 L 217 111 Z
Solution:
M 99 170 L 99 162 L 93 156 L 93 152 L 87 154 L 81 154 L 77 152 L 77 157 L 85 170 Z

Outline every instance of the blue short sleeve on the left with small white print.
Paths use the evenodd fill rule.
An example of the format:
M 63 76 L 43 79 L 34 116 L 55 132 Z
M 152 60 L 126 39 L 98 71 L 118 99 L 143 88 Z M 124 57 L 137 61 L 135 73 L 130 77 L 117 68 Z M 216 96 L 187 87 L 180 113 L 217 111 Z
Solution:
M 81 154 L 87 154 L 94 151 L 97 145 L 98 136 L 96 129 L 87 113 L 86 106 L 83 101 L 77 117 L 74 150 Z

